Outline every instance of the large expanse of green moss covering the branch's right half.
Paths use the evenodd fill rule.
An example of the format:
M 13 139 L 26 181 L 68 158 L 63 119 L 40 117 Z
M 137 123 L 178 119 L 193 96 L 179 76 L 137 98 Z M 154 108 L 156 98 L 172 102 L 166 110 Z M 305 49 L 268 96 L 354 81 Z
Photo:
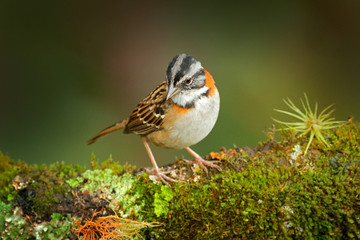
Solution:
M 359 125 L 324 136 L 330 148 L 315 141 L 306 157 L 298 146 L 307 140 L 292 134 L 224 149 L 222 173 L 174 185 L 167 214 L 152 209 L 145 219 L 165 223 L 152 229 L 160 239 L 358 239 Z

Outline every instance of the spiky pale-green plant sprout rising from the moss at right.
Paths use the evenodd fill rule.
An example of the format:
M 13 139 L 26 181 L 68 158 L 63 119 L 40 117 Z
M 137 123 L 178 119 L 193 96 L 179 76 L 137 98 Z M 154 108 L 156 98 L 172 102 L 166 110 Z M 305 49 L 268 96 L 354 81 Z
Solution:
M 284 122 L 279 121 L 277 119 L 273 120 L 277 123 L 283 124 L 285 126 L 285 130 L 293 129 L 296 132 L 300 133 L 300 136 L 303 135 L 310 135 L 309 142 L 306 146 L 304 155 L 306 155 L 311 142 L 316 138 L 319 140 L 321 144 L 323 144 L 325 147 L 329 147 L 329 143 L 325 140 L 324 135 L 322 132 L 324 130 L 332 129 L 335 127 L 340 126 L 344 123 L 344 121 L 335 121 L 335 118 L 331 116 L 331 114 L 335 111 L 335 109 L 330 109 L 333 104 L 327 106 L 324 110 L 320 112 L 318 115 L 318 104 L 315 103 L 315 109 L 312 111 L 309 100 L 304 93 L 305 96 L 305 102 L 300 98 L 301 105 L 303 107 L 303 111 L 298 108 L 291 100 L 290 98 L 283 99 L 284 103 L 294 112 L 288 112 L 284 110 L 274 109 L 277 112 L 284 113 L 286 115 L 292 116 L 294 118 L 297 118 L 300 120 L 299 122 Z

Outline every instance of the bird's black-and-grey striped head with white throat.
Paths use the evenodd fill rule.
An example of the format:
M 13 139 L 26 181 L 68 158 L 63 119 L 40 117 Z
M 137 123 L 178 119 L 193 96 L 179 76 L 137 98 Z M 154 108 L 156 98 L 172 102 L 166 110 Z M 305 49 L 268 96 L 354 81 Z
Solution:
M 167 68 L 166 78 L 167 99 L 171 98 L 180 107 L 193 107 L 197 99 L 207 96 L 211 90 L 206 86 L 206 70 L 188 54 L 179 54 L 173 58 Z

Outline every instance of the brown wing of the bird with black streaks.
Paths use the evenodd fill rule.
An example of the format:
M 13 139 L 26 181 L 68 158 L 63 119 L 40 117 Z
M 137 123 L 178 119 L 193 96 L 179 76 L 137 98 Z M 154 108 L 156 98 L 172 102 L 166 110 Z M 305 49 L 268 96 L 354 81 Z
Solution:
M 167 82 L 162 82 L 140 101 L 131 113 L 124 133 L 146 135 L 161 128 L 166 108 L 166 86 Z

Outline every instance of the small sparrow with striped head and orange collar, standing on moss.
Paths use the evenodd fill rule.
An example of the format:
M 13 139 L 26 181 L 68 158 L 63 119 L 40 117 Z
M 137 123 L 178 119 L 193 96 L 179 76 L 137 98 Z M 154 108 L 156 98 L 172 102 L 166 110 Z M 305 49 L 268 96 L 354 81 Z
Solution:
M 161 171 L 149 143 L 168 149 L 185 149 L 195 163 L 208 172 L 207 167 L 221 170 L 219 161 L 204 160 L 190 146 L 203 140 L 213 129 L 219 115 L 220 95 L 210 73 L 193 56 L 176 55 L 166 69 L 166 80 L 139 102 L 130 116 L 97 133 L 88 145 L 117 130 L 136 134 L 142 139 L 152 163 L 150 175 L 164 184 L 183 182 L 170 178 Z

